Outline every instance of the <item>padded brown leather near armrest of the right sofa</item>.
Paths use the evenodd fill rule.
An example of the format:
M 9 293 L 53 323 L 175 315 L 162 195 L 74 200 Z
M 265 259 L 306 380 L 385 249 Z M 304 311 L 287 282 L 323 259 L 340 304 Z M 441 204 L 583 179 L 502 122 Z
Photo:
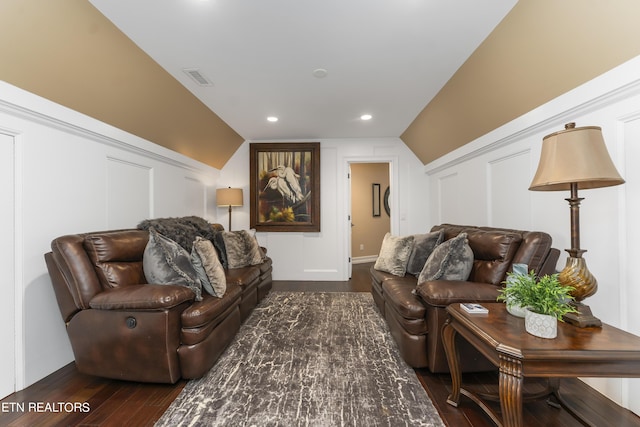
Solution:
M 446 307 L 457 302 L 495 302 L 500 287 L 464 280 L 433 280 L 417 286 L 417 293 L 429 305 Z

